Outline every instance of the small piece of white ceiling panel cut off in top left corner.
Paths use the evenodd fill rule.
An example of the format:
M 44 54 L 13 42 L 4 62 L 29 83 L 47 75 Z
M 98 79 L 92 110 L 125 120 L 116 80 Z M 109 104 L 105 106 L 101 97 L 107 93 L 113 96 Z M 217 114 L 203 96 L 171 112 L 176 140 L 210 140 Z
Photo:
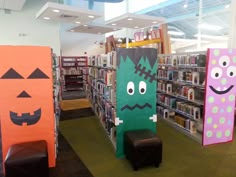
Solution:
M 21 10 L 26 0 L 0 0 L 0 9 Z

